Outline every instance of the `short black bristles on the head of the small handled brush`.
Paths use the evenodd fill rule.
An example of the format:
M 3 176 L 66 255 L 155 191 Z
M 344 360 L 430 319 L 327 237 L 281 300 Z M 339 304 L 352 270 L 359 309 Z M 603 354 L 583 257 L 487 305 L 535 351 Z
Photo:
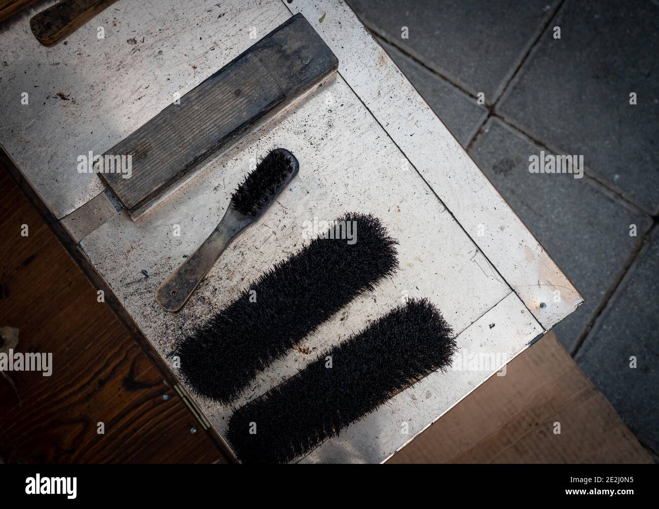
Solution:
M 285 152 L 270 150 L 233 192 L 231 206 L 245 216 L 256 216 L 291 171 L 293 161 Z

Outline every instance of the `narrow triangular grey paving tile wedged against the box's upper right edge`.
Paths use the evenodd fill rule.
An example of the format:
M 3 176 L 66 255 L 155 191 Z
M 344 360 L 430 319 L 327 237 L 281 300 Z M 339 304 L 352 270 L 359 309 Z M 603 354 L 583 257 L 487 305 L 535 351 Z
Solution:
M 478 105 L 474 98 L 428 71 L 391 44 L 383 40 L 379 42 L 453 136 L 463 146 L 467 146 L 487 116 L 487 108 Z

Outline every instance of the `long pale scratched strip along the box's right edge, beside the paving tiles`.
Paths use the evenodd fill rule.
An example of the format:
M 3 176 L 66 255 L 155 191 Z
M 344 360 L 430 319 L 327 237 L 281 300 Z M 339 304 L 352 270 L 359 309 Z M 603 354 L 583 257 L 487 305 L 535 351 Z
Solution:
M 350 7 L 342 0 L 285 5 L 316 28 L 339 57 L 341 76 L 544 328 L 577 309 L 583 297 Z

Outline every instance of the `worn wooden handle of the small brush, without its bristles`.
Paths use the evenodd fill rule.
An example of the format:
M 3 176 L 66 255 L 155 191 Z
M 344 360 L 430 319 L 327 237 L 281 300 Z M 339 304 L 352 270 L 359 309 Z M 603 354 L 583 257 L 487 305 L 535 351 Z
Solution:
M 235 229 L 227 229 L 222 222 L 217 225 L 208 239 L 156 290 L 158 304 L 172 313 L 179 311 L 236 235 Z

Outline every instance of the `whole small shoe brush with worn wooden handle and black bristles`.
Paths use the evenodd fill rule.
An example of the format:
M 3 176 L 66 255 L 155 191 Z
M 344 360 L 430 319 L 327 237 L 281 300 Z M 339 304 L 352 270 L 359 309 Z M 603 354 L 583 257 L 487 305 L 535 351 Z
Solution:
M 268 152 L 234 191 L 227 212 L 208 239 L 156 290 L 158 304 L 167 311 L 179 311 L 231 241 L 268 210 L 298 170 L 297 159 L 285 148 Z

